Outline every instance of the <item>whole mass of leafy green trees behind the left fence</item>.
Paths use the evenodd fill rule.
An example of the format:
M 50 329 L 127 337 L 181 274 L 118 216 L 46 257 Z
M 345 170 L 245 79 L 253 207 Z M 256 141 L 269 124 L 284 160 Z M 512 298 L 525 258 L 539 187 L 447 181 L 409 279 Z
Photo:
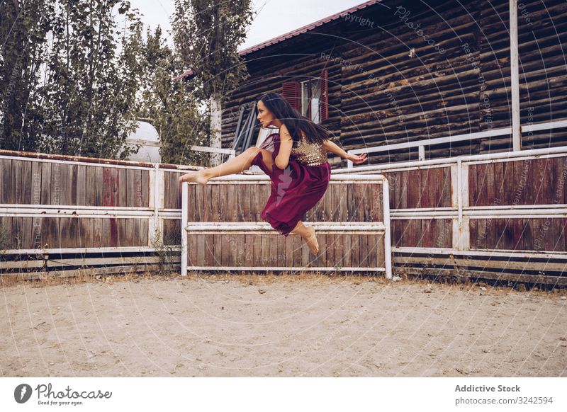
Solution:
M 0 148 L 124 159 L 137 119 L 159 132 L 162 161 L 209 155 L 210 96 L 246 76 L 237 47 L 250 0 L 176 0 L 176 50 L 147 33 L 128 0 L 0 1 Z M 172 79 L 188 68 L 189 81 Z

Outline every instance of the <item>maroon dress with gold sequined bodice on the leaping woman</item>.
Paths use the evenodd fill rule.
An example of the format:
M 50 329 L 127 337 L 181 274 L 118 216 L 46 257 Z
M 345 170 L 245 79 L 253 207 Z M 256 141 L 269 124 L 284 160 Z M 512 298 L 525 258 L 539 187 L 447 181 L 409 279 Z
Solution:
M 279 145 L 279 134 L 274 133 L 266 137 L 260 147 L 271 151 L 271 158 L 275 161 Z M 252 164 L 261 168 L 271 181 L 271 195 L 261 217 L 280 234 L 288 236 L 305 212 L 315 206 L 327 191 L 331 166 L 325 150 L 320 144 L 308 144 L 302 139 L 293 144 L 288 166 L 283 170 L 274 164 L 270 172 L 262 153 L 254 157 Z

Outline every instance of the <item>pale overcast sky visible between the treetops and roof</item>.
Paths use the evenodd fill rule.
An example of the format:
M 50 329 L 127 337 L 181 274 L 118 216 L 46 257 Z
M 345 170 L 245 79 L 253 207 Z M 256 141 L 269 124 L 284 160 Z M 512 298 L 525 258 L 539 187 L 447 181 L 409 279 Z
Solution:
M 239 50 L 275 38 L 303 25 L 331 16 L 339 11 L 364 3 L 365 0 L 253 0 L 258 14 L 247 32 L 246 41 Z M 130 0 L 140 10 L 142 21 L 150 28 L 160 25 L 164 35 L 169 34 L 175 6 L 174 0 Z M 168 42 L 172 45 L 172 39 Z

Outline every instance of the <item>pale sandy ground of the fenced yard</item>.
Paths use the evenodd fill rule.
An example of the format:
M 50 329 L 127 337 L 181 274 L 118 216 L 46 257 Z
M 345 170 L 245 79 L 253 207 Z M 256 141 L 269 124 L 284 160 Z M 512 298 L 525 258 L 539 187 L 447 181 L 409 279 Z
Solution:
M 565 291 L 317 274 L 0 291 L 4 377 L 567 377 Z

